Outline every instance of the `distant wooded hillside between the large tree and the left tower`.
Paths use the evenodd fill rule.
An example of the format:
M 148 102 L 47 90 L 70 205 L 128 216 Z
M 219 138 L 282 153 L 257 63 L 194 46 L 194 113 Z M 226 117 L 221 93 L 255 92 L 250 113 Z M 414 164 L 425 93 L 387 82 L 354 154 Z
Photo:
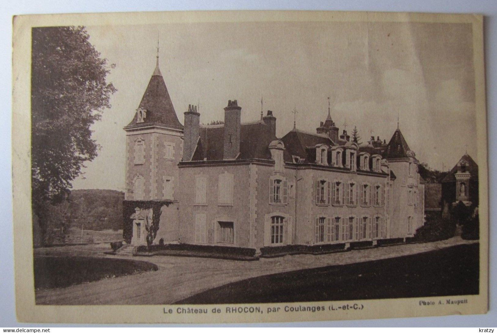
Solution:
M 116 190 L 72 190 L 67 205 L 69 227 L 122 229 L 123 200 L 124 192 Z

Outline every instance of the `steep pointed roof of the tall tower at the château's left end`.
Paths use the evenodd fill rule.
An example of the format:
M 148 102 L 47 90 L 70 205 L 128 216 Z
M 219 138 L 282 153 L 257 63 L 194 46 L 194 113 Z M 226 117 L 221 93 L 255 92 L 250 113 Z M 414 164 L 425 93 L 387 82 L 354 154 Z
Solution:
M 147 110 L 143 122 L 138 122 L 138 113 L 135 113 L 133 120 L 126 127 L 143 124 L 160 124 L 183 129 L 183 125 L 179 122 L 174 106 L 172 105 L 166 83 L 159 69 L 159 63 L 152 74 L 152 78 L 150 78 L 139 107 Z

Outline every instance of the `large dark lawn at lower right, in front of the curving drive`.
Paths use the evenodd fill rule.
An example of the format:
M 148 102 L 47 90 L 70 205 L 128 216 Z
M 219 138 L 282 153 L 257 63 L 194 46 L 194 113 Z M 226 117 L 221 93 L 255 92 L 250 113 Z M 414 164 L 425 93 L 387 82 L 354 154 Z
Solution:
M 296 270 L 229 283 L 176 304 L 276 303 L 470 295 L 479 292 L 479 245 Z

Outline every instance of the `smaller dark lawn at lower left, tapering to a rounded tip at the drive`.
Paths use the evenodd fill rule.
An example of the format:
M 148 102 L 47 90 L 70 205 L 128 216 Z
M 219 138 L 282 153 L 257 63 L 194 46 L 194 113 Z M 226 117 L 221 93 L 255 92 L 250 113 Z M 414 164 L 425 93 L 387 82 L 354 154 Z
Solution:
M 129 259 L 35 255 L 34 286 L 60 288 L 157 269 L 153 263 Z

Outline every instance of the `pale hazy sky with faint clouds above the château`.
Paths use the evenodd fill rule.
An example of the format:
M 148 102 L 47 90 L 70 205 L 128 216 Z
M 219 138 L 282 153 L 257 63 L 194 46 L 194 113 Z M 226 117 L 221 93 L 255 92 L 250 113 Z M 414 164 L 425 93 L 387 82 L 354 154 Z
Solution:
M 328 113 L 362 141 L 390 140 L 400 129 L 420 162 L 453 167 L 465 153 L 477 160 L 472 30 L 457 23 L 260 22 L 87 26 L 90 42 L 116 64 L 118 91 L 93 125 L 102 146 L 74 188 L 124 190 L 125 132 L 156 63 L 178 119 L 200 101 L 200 121 L 224 119 L 238 99 L 242 122 L 264 112 L 276 135 L 293 127 L 316 131 Z

